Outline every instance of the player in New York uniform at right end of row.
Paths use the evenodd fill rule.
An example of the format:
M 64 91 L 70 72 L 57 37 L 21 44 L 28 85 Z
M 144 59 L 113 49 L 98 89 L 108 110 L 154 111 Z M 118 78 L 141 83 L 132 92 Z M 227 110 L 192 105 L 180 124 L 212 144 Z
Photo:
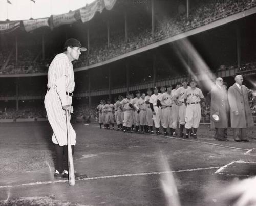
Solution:
M 197 83 L 194 79 L 190 82 L 190 88 L 186 89 L 184 94 L 184 102 L 187 105 L 186 114 L 185 114 L 185 128 L 186 136 L 193 135 L 194 138 L 197 138 L 197 128 L 201 120 L 201 105 L 200 101 L 204 98 L 203 93 L 200 88 L 197 88 Z M 193 131 L 192 131 L 193 128 Z

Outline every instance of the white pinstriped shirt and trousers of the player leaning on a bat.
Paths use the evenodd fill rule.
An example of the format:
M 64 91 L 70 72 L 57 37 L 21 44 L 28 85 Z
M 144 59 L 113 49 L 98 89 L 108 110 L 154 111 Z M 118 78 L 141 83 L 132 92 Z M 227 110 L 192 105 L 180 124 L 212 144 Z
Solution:
M 48 88 L 45 96 L 45 108 L 47 111 L 47 117 L 49 123 L 53 129 L 52 141 L 59 146 L 68 145 L 67 142 L 67 123 L 65 117 L 65 111 L 62 109 L 62 103 L 60 100 L 60 94 L 57 93 L 57 82 L 65 77 L 65 84 L 58 85 L 68 92 L 73 92 L 75 87 L 73 65 L 69 61 L 66 54 L 58 54 L 53 59 L 49 71 L 48 71 Z M 64 95 L 63 97 L 68 105 L 72 104 L 72 96 Z M 71 116 L 69 116 L 69 119 Z M 68 127 L 70 127 L 71 145 L 76 144 L 76 133 L 73 129 L 70 121 L 68 121 Z

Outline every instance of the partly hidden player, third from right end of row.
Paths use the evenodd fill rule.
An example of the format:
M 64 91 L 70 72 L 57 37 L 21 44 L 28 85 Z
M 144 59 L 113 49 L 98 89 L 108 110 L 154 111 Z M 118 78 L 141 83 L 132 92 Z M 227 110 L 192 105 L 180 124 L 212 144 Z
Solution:
M 170 93 L 172 97 L 175 97 L 176 91 L 180 87 L 181 87 L 181 83 L 177 82 L 175 89 L 173 89 Z M 179 121 L 179 104 L 177 102 L 177 99 L 174 98 L 173 104 L 172 104 L 172 127 L 170 128 L 171 136 L 176 136 L 176 128 L 177 128 L 178 121 Z

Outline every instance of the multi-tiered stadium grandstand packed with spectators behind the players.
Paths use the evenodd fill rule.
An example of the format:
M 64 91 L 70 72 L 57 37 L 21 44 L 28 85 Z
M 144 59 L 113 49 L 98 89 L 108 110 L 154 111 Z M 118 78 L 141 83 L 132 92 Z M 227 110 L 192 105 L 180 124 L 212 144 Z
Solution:
M 101 99 L 183 78 L 196 77 L 207 94 L 209 80 L 231 86 L 242 74 L 256 89 L 255 19 L 255 0 L 95 0 L 49 18 L 7 19 L 0 22 L 0 119 L 46 117 L 48 67 L 71 37 L 88 48 L 73 63 L 77 119 L 95 118 Z M 210 122 L 209 110 L 203 102 L 202 122 Z

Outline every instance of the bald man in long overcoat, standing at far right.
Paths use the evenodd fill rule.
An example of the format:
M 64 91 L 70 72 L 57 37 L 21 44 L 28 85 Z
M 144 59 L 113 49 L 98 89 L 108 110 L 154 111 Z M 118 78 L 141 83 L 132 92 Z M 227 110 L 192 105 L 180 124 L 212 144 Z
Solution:
M 249 142 L 246 136 L 246 129 L 252 127 L 254 124 L 248 99 L 248 94 L 252 93 L 252 90 L 242 85 L 242 75 L 237 75 L 234 80 L 236 83 L 228 89 L 230 120 L 234 133 L 234 141 Z

